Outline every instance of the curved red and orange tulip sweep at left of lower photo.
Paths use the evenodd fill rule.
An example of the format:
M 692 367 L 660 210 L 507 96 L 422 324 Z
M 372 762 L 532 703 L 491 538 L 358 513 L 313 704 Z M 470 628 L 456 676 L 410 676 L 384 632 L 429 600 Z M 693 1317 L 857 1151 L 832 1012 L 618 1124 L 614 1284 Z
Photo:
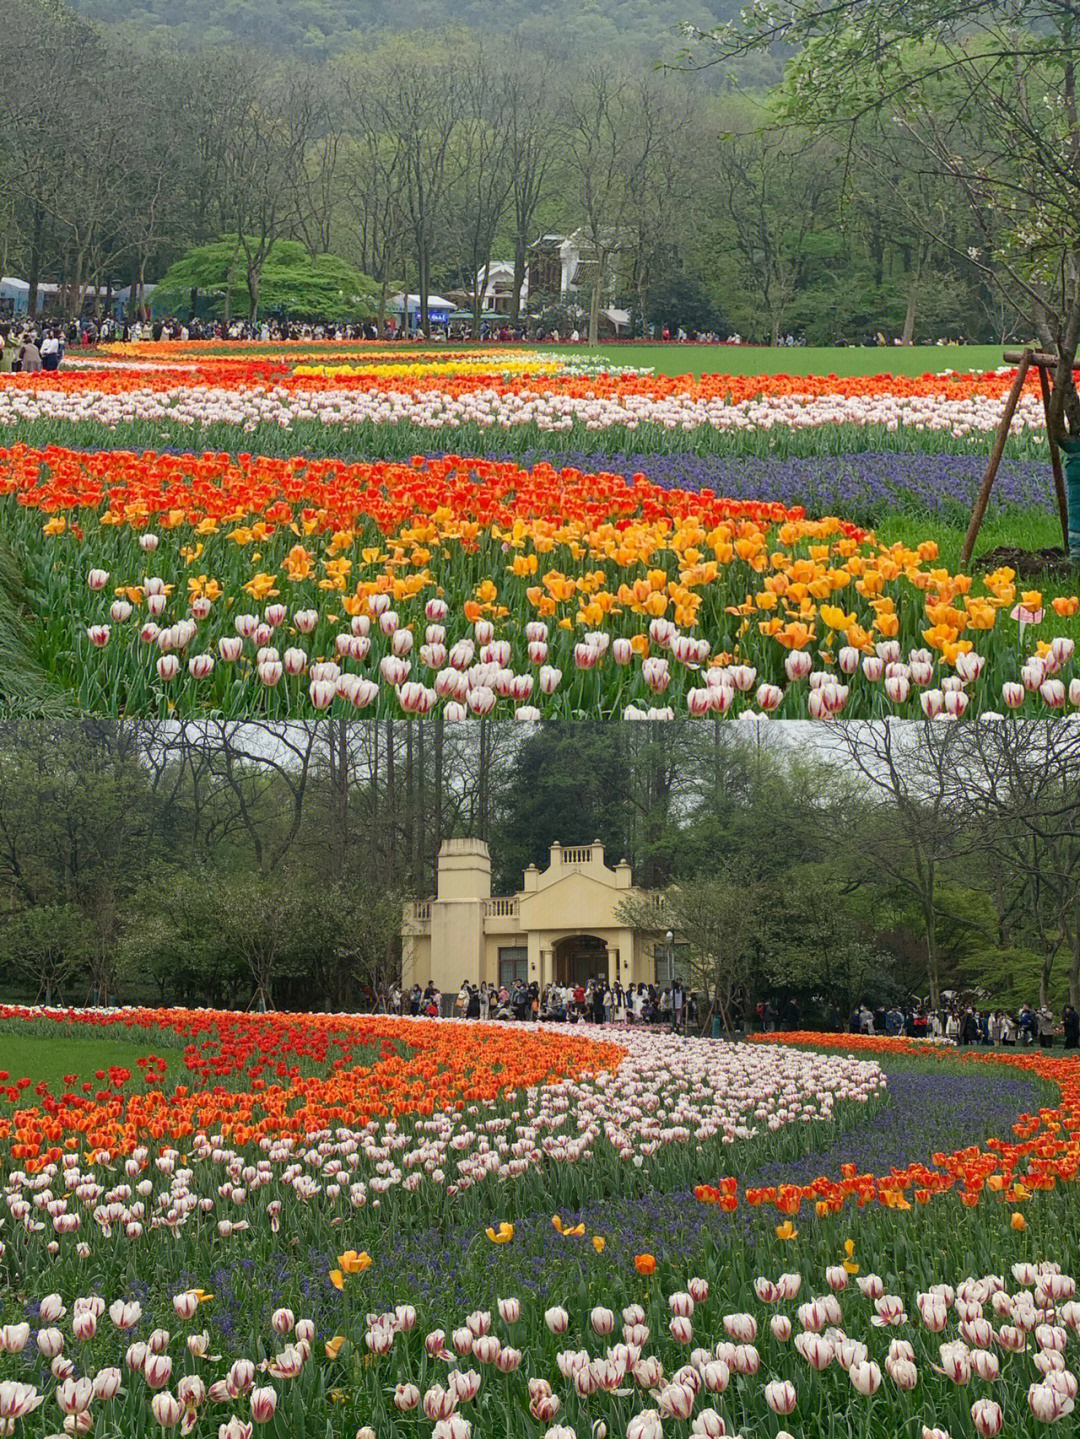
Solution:
M 217 1131 L 244 1145 L 337 1125 L 394 1128 L 406 1117 L 453 1115 L 466 1105 L 614 1069 L 623 1049 L 577 1033 L 538 1035 L 489 1025 L 433 1025 L 393 1016 L 240 1014 L 230 1010 L 40 1012 L 0 1006 L 0 1020 L 50 1019 L 58 1027 L 168 1029 L 187 1039 L 190 1079 L 171 1092 L 157 1072 L 135 1088 L 112 1072 L 92 1094 L 30 1091 L 6 1076 L 0 1145 L 27 1173 L 83 1148 L 129 1154 L 141 1144 L 191 1141 Z M 378 1045 L 374 1063 L 352 1050 Z M 404 1046 L 404 1052 L 403 1048 Z M 314 1071 L 314 1072 L 312 1072 Z M 72 1076 L 73 1078 L 73 1076 Z M 101 1076 L 105 1079 L 105 1075 Z M 227 1081 L 229 1085 L 223 1084 Z

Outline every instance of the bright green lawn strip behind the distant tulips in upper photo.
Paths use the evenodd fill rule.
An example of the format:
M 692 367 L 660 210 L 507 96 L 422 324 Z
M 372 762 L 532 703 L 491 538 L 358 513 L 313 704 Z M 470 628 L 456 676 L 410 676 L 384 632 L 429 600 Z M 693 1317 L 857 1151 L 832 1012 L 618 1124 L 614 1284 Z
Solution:
M 559 345 L 559 348 L 564 348 Z M 584 345 L 568 354 L 592 354 Z M 997 370 L 1001 345 L 880 345 L 784 350 L 766 345 L 600 345 L 615 364 L 651 366 L 657 374 L 928 374 Z

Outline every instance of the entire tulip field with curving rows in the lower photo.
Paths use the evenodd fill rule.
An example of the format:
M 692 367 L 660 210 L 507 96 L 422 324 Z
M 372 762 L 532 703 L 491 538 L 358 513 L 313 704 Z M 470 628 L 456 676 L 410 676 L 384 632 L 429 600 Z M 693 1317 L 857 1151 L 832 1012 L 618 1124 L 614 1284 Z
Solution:
M 6 1435 L 1073 1429 L 1073 1058 L 0 1007 L 58 1043 L 0 1069 Z

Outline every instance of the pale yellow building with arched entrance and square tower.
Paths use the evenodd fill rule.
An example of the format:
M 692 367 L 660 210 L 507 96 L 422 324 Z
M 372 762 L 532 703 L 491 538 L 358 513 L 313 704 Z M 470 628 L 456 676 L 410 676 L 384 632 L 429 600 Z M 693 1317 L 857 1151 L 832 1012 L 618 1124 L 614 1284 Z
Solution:
M 656 931 L 627 928 L 627 901 L 656 905 Z M 634 888 L 630 865 L 604 863 L 604 846 L 552 845 L 545 871 L 529 865 L 516 895 L 492 895 L 492 859 L 479 839 L 447 839 L 439 850 L 434 899 L 406 907 L 403 984 L 434 980 L 443 993 L 462 983 L 509 986 L 536 980 L 559 984 L 653 984 L 667 981 L 663 896 Z

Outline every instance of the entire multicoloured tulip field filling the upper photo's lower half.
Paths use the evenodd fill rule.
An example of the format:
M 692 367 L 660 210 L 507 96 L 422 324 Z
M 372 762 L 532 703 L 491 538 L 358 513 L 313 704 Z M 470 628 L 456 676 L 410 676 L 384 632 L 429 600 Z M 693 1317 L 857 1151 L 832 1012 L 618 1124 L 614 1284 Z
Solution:
M 0 378 L 0 570 L 20 663 L 82 711 L 1080 705 L 1074 580 L 955 570 L 1008 371 L 178 342 L 72 364 Z M 1033 383 L 991 525 L 1050 544 L 1041 426 Z

